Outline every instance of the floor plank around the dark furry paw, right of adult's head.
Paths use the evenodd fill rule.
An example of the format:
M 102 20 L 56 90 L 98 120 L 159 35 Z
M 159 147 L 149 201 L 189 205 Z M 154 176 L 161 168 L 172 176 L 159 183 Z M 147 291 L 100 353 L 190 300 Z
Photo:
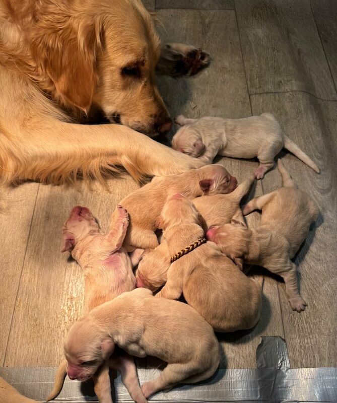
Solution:
M 193 44 L 212 57 L 210 66 L 196 76 L 158 78 L 159 89 L 171 116 L 181 113 L 189 117 L 249 116 L 249 98 L 234 11 L 159 10 L 157 16 L 167 31 L 165 36 L 163 33 L 164 42 Z

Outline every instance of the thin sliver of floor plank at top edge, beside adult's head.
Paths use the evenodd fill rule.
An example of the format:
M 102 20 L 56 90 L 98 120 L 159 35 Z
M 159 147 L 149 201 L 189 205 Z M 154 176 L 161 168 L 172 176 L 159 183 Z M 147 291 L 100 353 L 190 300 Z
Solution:
M 233 10 L 233 0 L 156 0 L 156 9 Z

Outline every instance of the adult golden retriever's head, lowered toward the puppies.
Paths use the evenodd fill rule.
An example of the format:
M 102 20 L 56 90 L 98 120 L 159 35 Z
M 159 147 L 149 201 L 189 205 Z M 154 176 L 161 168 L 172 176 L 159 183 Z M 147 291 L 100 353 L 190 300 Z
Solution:
M 55 100 L 86 113 L 98 106 L 111 122 L 150 136 L 170 129 L 155 84 L 160 41 L 140 0 L 11 3 L 15 24 L 6 29 L 22 32 L 25 46 L 19 54 L 11 44 L 7 53 Z M 20 63 L 13 62 L 14 48 Z

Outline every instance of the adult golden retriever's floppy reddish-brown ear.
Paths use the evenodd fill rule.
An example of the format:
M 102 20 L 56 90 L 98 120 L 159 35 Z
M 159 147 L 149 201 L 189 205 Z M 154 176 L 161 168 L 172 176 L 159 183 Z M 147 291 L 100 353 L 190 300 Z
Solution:
M 85 112 L 90 108 L 97 82 L 96 53 L 100 47 L 97 30 L 95 22 L 75 26 L 68 18 L 61 28 L 37 27 L 32 41 L 34 58 L 51 87 L 47 90 L 65 106 Z

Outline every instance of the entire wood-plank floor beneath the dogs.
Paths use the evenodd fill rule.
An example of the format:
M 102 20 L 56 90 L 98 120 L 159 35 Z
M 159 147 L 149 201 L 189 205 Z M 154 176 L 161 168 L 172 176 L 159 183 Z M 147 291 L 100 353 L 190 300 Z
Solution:
M 239 118 L 272 112 L 287 135 L 321 168 L 317 175 L 294 156 L 284 164 L 308 191 L 321 217 L 299 252 L 304 313 L 294 313 L 284 284 L 266 277 L 262 317 L 250 332 L 222 335 L 222 366 L 254 368 L 262 335 L 281 335 L 296 367 L 337 366 L 337 2 L 335 0 L 147 0 L 163 22 L 164 40 L 195 44 L 213 58 L 196 77 L 161 77 L 172 116 Z M 257 165 L 225 160 L 238 180 Z M 277 171 L 255 194 L 280 185 Z M 70 209 L 89 207 L 107 229 L 118 201 L 137 185 L 127 176 L 100 186 L 26 183 L 5 193 L 0 216 L 0 365 L 57 366 L 62 340 L 81 313 L 81 268 L 60 253 Z M 252 225 L 258 214 L 249 218 Z

